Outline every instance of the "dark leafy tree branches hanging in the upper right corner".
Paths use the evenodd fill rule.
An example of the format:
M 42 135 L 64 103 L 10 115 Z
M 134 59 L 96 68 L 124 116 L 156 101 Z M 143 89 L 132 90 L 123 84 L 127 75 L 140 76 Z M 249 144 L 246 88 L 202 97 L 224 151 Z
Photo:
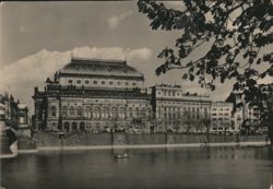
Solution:
M 272 96 L 272 84 L 258 81 L 273 76 L 272 1 L 181 0 L 181 3 L 183 10 L 174 10 L 163 2 L 138 1 L 139 11 L 152 21 L 153 29 L 181 31 L 175 48 L 166 47 L 159 52 L 163 63 L 156 74 L 183 69 L 182 79 L 197 80 L 201 87 L 212 91 L 215 80 L 224 83 L 235 79 L 233 91 L 241 92 L 246 102 L 259 106 L 262 117 L 268 119 L 264 102 Z M 203 56 L 185 61 L 202 45 L 207 49 Z

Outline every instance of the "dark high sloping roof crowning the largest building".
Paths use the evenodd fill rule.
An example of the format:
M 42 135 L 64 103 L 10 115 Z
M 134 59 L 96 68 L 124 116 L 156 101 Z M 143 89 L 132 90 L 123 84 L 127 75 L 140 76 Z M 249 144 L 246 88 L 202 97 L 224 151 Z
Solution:
M 124 60 L 103 60 L 103 59 L 83 59 L 72 58 L 70 63 L 60 70 L 60 73 L 72 74 L 102 74 L 102 75 L 122 75 L 122 76 L 142 76 L 136 69 L 127 64 Z

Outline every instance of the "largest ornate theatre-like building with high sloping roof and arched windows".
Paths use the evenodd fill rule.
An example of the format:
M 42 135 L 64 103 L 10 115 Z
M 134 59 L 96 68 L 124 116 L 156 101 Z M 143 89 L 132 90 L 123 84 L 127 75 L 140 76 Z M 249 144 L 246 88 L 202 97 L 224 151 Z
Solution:
M 151 95 L 127 61 L 72 58 L 44 92 L 35 87 L 34 125 L 49 130 L 150 132 Z

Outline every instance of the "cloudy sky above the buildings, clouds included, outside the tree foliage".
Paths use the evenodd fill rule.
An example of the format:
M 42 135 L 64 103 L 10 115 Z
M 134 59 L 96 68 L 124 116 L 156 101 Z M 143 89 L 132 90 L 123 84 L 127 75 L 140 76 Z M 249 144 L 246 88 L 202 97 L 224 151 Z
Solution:
M 168 8 L 182 9 L 179 1 Z M 150 20 L 138 11 L 136 1 L 2 2 L 0 7 L 0 93 L 8 92 L 33 110 L 34 87 L 69 63 L 71 56 L 127 59 L 145 75 L 145 85 L 180 84 L 185 92 L 210 94 L 225 101 L 229 81 L 215 92 L 181 80 L 174 70 L 156 76 L 163 62 L 157 55 L 171 47 L 178 31 L 152 31 Z M 202 47 L 194 56 L 207 50 Z

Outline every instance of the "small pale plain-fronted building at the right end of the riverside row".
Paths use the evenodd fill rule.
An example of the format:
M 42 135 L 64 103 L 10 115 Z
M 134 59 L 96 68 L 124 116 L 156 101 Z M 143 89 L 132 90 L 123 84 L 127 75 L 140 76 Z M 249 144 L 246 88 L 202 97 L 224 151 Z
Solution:
M 211 132 L 235 133 L 238 126 L 235 125 L 233 103 L 214 102 L 211 106 Z M 236 116 L 237 117 L 237 116 Z

